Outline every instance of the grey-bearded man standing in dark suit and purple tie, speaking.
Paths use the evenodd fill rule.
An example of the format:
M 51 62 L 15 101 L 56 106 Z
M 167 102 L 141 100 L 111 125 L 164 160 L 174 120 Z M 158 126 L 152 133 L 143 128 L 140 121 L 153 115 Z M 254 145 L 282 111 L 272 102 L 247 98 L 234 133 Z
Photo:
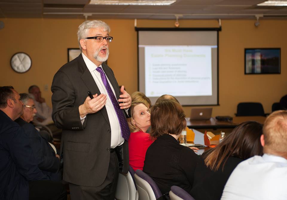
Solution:
M 58 70 L 51 87 L 52 118 L 63 129 L 63 179 L 72 200 L 114 199 L 118 173 L 129 168 L 126 115 L 132 99 L 123 86 L 119 91 L 113 71 L 103 63 L 113 39 L 109 32 L 103 21 L 81 24 L 82 53 Z

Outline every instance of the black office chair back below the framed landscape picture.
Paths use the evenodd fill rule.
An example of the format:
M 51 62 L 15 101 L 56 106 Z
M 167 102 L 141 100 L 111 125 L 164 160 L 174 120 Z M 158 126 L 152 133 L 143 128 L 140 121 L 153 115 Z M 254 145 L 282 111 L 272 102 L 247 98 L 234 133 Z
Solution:
M 261 103 L 242 102 L 237 105 L 235 116 L 266 116 Z

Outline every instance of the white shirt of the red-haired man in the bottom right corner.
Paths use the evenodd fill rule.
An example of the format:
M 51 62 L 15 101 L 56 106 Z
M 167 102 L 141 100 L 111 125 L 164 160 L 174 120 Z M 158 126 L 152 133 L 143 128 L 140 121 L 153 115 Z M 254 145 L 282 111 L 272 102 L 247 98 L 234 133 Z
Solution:
M 286 200 L 287 160 L 264 154 L 237 165 L 225 184 L 221 200 Z

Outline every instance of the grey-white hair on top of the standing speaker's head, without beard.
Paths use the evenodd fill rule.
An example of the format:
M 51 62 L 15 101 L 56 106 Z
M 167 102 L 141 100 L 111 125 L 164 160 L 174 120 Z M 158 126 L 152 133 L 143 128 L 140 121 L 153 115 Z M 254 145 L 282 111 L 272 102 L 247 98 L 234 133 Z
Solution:
M 103 28 L 104 31 L 108 31 L 108 33 L 111 31 L 110 27 L 108 24 L 106 24 L 103 21 L 100 20 L 87 20 L 85 22 L 83 22 L 78 29 L 77 35 L 78 35 L 78 43 L 79 43 L 79 47 L 80 50 L 82 51 L 82 47 L 80 44 L 80 40 L 81 39 L 85 39 L 87 37 L 87 32 L 89 29 L 91 28 Z

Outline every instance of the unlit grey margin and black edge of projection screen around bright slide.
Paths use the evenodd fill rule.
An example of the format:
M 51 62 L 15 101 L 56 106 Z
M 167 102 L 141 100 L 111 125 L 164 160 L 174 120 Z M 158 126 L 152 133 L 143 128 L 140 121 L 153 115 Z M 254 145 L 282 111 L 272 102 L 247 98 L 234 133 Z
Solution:
M 138 91 L 145 93 L 145 47 L 210 46 L 212 95 L 176 96 L 167 89 L 163 94 L 174 95 L 181 105 L 219 105 L 218 95 L 218 31 L 221 28 L 136 28 L 138 31 Z M 176 60 L 175 60 L 176 61 Z M 188 90 L 188 88 L 186 88 Z M 162 94 L 161 94 L 162 95 Z M 152 104 L 159 96 L 149 96 Z

